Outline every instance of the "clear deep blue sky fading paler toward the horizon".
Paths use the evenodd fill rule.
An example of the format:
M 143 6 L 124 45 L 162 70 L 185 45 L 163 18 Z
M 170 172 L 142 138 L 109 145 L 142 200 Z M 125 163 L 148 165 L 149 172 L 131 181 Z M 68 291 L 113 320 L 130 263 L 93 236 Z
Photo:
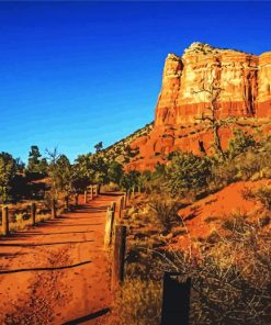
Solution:
M 0 2 L 0 152 L 74 159 L 154 120 L 168 53 L 271 51 L 271 2 Z

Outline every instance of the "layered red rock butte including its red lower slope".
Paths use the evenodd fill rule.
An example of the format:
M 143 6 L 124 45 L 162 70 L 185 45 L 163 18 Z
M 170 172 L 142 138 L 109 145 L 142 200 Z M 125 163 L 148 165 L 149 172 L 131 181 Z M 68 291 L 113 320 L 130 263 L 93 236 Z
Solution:
M 169 54 L 166 58 L 154 128 L 132 143 L 139 156 L 126 169 L 154 169 L 173 150 L 200 154 L 199 143 L 212 153 L 212 131 L 200 119 L 210 107 L 210 97 L 202 89 L 214 83 L 222 89 L 218 119 L 240 117 L 248 131 L 252 125 L 270 133 L 271 52 L 256 56 L 196 42 L 182 57 Z M 224 148 L 235 127 L 221 128 Z

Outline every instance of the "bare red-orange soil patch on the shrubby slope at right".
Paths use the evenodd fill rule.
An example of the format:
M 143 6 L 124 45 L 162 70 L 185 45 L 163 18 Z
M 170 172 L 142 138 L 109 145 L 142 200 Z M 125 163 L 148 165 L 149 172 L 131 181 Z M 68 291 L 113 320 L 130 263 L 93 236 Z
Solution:
M 262 205 L 257 201 L 246 200 L 245 189 L 257 190 L 260 187 L 271 187 L 271 180 L 240 181 L 233 183 L 215 194 L 208 195 L 188 208 L 179 211 L 194 248 L 199 239 L 208 237 L 213 232 L 223 235 L 222 223 L 238 215 L 248 218 L 260 216 Z M 271 228 L 270 228 L 271 229 Z M 190 245 L 188 235 L 179 236 L 174 247 L 185 249 Z

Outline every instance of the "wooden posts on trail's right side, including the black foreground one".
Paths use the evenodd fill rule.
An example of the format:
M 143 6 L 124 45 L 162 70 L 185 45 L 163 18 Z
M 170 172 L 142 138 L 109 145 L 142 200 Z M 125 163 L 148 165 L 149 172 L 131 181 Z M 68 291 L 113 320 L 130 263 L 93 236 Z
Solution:
M 106 211 L 104 249 L 112 248 L 111 289 L 124 281 L 125 248 L 127 228 L 120 224 L 129 200 L 125 193 L 112 202 Z M 191 279 L 182 274 L 165 272 L 162 279 L 162 306 L 160 325 L 189 325 Z

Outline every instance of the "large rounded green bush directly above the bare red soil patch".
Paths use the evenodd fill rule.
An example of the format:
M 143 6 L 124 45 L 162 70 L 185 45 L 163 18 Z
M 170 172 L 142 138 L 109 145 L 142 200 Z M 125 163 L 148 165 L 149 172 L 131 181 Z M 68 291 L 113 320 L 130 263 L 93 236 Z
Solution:
M 192 153 L 178 153 L 167 166 L 168 187 L 172 195 L 188 191 L 201 192 L 211 177 L 212 162 L 208 157 Z

